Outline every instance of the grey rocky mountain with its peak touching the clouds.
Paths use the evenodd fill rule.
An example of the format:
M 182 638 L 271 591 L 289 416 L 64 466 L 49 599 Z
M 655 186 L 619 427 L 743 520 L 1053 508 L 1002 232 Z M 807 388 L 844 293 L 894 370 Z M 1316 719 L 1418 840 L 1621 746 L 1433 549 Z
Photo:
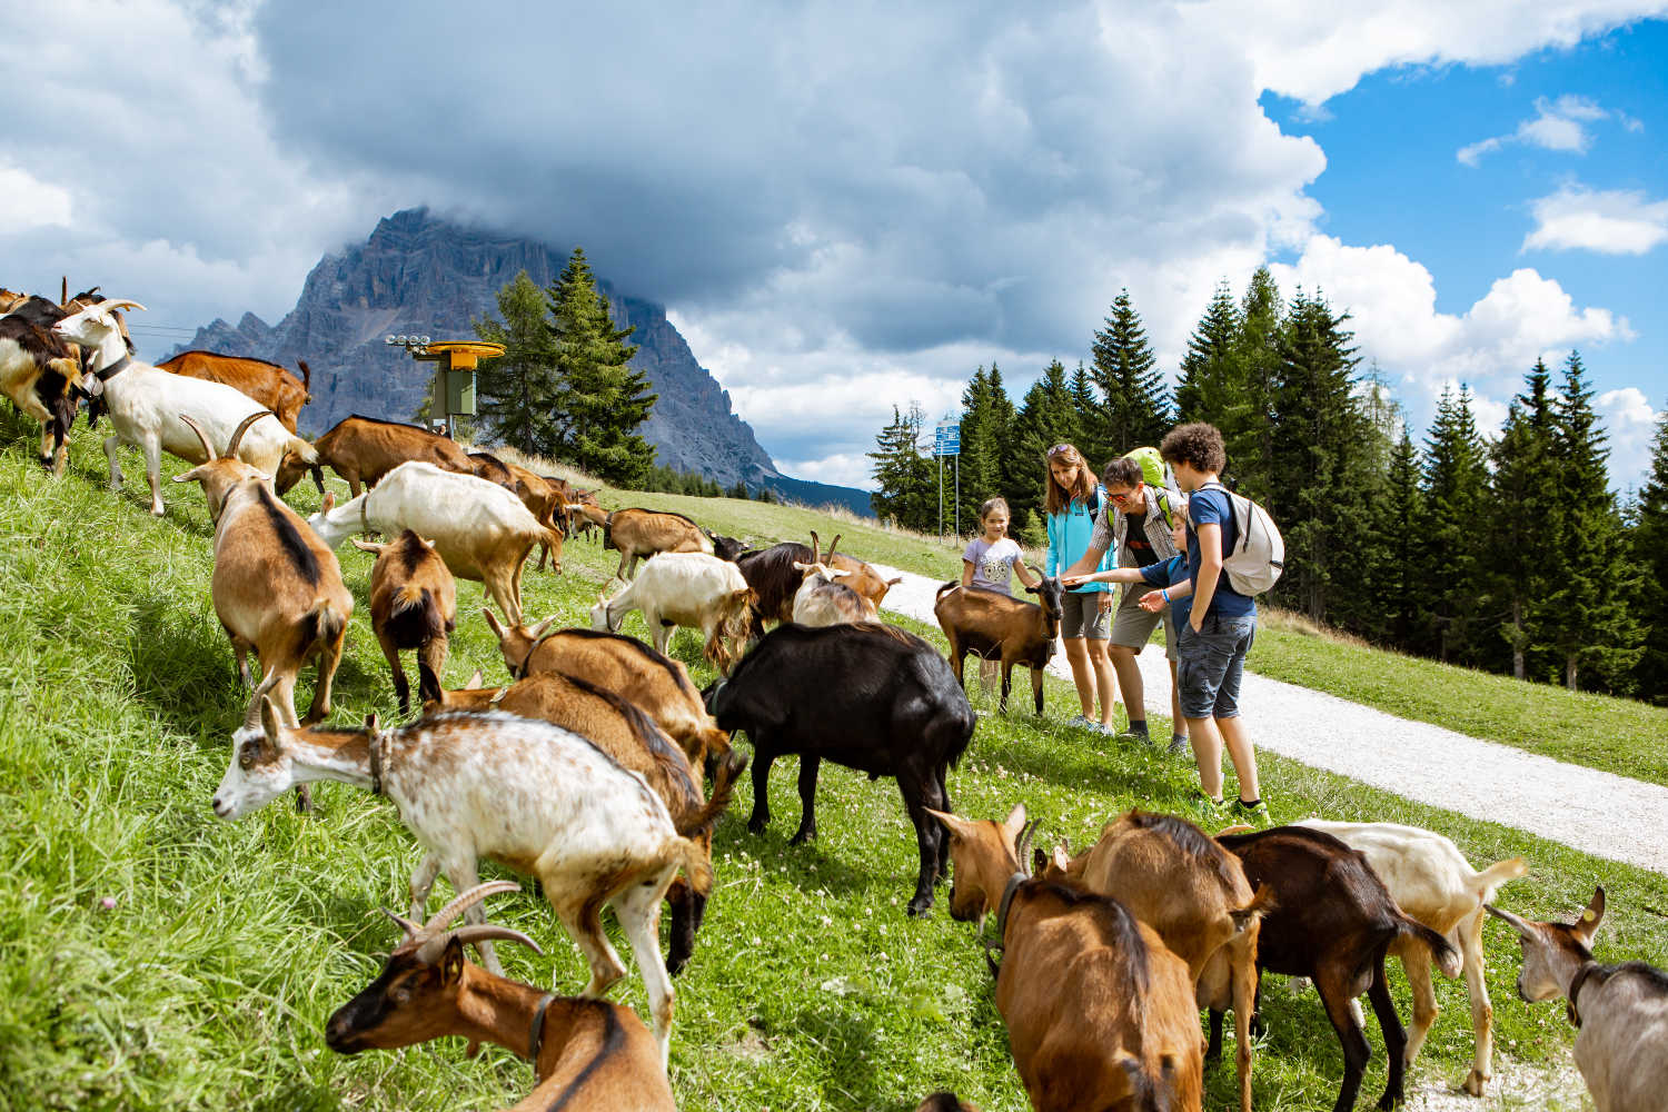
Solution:
M 497 315 L 497 292 L 517 272 L 525 270 L 547 287 L 564 265 L 565 250 L 409 208 L 377 223 L 364 245 L 319 260 L 295 308 L 277 325 L 254 313 L 244 313 L 235 327 L 215 320 L 178 350 L 252 355 L 290 368 L 305 358 L 312 367 L 314 402 L 302 410 L 304 435 L 315 437 L 349 413 L 412 420 L 427 395 L 434 363 L 412 360 L 384 337 L 474 338 L 470 322 L 489 312 Z M 659 463 L 702 472 L 724 485 L 741 480 L 799 502 L 871 512 L 869 495 L 861 490 L 777 472 L 666 310 L 622 295 L 607 280 L 599 278 L 597 287 L 609 298 L 614 322 L 636 328 L 629 340 L 639 345 L 632 367 L 649 377 L 659 395 L 642 430 Z

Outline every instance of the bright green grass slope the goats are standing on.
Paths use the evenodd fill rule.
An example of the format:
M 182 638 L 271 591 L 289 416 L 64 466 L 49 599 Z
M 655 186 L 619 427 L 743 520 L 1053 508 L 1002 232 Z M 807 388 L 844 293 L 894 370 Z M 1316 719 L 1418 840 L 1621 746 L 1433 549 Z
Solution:
M 208 600 L 202 495 L 170 485 L 168 513 L 153 520 L 140 487 L 103 490 L 103 457 L 85 430 L 58 482 L 33 465 L 30 437 L 10 412 L 0 418 L 0 1109 L 454 1110 L 524 1095 L 530 1069 L 494 1049 L 474 1060 L 455 1040 L 354 1059 L 325 1049 L 325 1017 L 395 940 L 377 909 L 404 902 L 415 845 L 392 805 L 334 784 L 315 789 L 317 815 L 274 804 L 239 824 L 214 819 L 208 799 L 245 694 Z M 132 478 L 137 457 L 125 465 Z M 168 472 L 178 470 L 170 460 Z M 300 488 L 292 497 L 299 508 L 315 500 Z M 721 530 L 759 537 L 811 525 L 847 532 L 842 547 L 892 564 L 911 545 L 922 562 L 946 559 L 801 510 L 641 502 L 681 503 Z M 342 564 L 360 607 L 335 719 L 377 710 L 390 720 L 392 687 L 364 605 L 370 557 L 344 545 Z M 569 545 L 564 575 L 529 574 L 529 612 L 584 622 L 612 567 L 612 552 Z M 460 584 L 459 595 L 447 679 L 462 682 L 474 667 L 502 679 L 479 587 Z M 627 632 L 642 632 L 636 615 Z M 694 635 L 681 634 L 674 649 L 697 679 L 709 675 Z M 309 697 L 310 682 L 297 702 Z M 1068 705 L 1053 680 L 1048 697 L 1051 709 Z M 1124 807 L 1181 804 L 1189 769 L 1066 732 L 1064 714 L 1053 714 L 981 720 L 951 774 L 957 812 L 1002 815 L 1024 802 L 1046 837 L 1083 844 Z M 717 890 L 677 982 L 681 1107 L 892 1112 L 937 1087 L 986 1109 L 1026 1107 L 972 930 L 944 914 L 944 890 L 929 917 L 902 914 L 916 852 L 896 787 L 824 767 L 821 839 L 787 847 L 797 795 L 794 762 L 781 764 L 767 834 L 746 832 L 746 792 L 717 830 Z M 1449 834 L 1476 864 L 1526 855 L 1531 875 L 1501 897 L 1523 914 L 1566 914 L 1603 880 L 1611 915 L 1600 957 L 1668 964 L 1668 924 L 1653 910 L 1668 907 L 1665 877 L 1278 759 L 1266 760 L 1264 779 L 1283 819 L 1413 822 Z M 442 880 L 435 899 L 445 895 Z M 547 949 L 535 957 L 502 947 L 512 974 L 567 990 L 584 982 L 577 950 L 532 894 L 489 907 Z M 1496 927 L 1488 939 L 1500 1055 L 1565 1062 L 1571 1030 L 1561 1009 L 1515 999 L 1516 945 Z M 1393 982 L 1406 1014 L 1399 972 Z M 639 1010 L 642 997 L 636 974 L 614 990 Z M 1438 999 L 1444 1015 L 1416 1077 L 1453 1084 L 1470 1062 L 1465 989 L 1441 982 Z M 1313 992 L 1293 995 L 1273 980 L 1264 1007 L 1258 1109 L 1331 1107 L 1341 1059 Z M 1376 1032 L 1369 1039 L 1371 1100 L 1383 1087 L 1383 1044 Z M 1229 1055 L 1208 1072 L 1206 1107 L 1233 1100 Z

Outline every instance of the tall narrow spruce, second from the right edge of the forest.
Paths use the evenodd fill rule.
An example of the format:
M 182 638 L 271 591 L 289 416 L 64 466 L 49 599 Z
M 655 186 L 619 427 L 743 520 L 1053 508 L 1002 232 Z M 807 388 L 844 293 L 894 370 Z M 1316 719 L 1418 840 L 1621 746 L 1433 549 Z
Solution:
M 1633 615 L 1640 584 L 1610 493 L 1608 437 L 1598 427 L 1593 388 L 1578 352 L 1565 360 L 1553 428 L 1566 560 L 1551 597 L 1558 607 L 1551 645 L 1570 690 L 1580 689 L 1583 669 L 1615 690 L 1625 685 L 1640 657 L 1643 630 Z

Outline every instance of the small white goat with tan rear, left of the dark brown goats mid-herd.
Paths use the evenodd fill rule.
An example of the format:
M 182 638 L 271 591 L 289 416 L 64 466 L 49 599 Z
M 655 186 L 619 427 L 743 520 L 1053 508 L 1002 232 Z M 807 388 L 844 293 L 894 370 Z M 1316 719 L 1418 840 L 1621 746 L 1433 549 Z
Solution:
M 706 637 L 707 662 L 727 675 L 747 637 L 751 605 L 752 590 L 734 564 L 706 552 L 661 552 L 612 599 L 597 597 L 590 629 L 617 634 L 620 619 L 642 610 L 659 654 L 666 654 L 676 627 L 697 629 Z

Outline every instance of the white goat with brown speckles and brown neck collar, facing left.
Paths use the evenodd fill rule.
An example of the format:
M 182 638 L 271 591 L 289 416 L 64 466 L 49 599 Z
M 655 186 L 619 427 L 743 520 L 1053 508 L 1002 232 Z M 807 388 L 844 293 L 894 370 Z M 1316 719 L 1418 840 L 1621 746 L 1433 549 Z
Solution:
M 507 714 L 440 714 L 400 730 L 292 730 L 272 700 L 260 725 L 232 737 L 232 764 L 214 812 L 239 819 L 290 784 L 340 780 L 387 795 L 427 850 L 412 872 L 412 919 L 422 917 L 439 872 L 459 892 L 475 887 L 475 862 L 489 857 L 544 885 L 557 919 L 590 964 L 582 995 L 597 997 L 626 975 L 602 932 L 614 905 L 649 994 L 661 1067 L 672 1027 L 672 982 L 656 924 L 672 875 L 689 870 L 699 890 L 712 867 L 677 834 L 661 797 L 585 739 Z M 480 909 L 470 909 L 480 922 Z M 502 974 L 490 942 L 480 957 Z

